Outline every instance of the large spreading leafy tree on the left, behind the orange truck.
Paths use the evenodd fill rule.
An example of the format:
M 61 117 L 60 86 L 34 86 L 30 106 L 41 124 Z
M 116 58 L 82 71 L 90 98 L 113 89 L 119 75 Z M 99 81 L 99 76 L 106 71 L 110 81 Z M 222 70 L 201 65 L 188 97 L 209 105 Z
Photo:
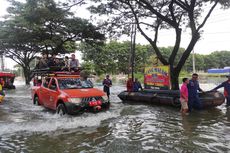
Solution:
M 104 35 L 87 20 L 75 17 L 71 6 L 54 0 L 10 0 L 8 15 L 0 22 L 0 51 L 24 71 L 29 84 L 30 62 L 37 53 L 73 52 L 77 41 L 93 42 Z M 82 1 L 79 1 L 79 3 Z

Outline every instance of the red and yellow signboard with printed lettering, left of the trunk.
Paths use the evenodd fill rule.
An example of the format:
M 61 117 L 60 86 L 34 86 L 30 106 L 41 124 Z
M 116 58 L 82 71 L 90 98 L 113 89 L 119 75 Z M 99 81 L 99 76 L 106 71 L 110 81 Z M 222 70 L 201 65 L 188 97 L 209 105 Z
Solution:
M 145 89 L 170 89 L 169 66 L 153 66 L 145 68 Z

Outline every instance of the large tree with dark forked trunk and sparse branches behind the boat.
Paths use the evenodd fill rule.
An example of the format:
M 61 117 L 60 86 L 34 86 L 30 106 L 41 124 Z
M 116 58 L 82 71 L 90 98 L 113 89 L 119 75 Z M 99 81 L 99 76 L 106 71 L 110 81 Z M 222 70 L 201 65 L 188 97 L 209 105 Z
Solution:
M 136 24 L 138 31 L 154 49 L 158 59 L 170 66 L 172 89 L 179 88 L 178 77 L 200 39 L 202 28 L 218 3 L 228 6 L 228 0 L 93 0 L 98 5 L 90 7 L 92 13 L 109 15 L 106 30 L 110 34 L 129 33 L 130 25 Z M 159 30 L 173 29 L 175 43 L 170 56 L 165 58 L 158 46 Z M 191 38 L 178 63 L 176 57 L 185 29 L 190 29 Z

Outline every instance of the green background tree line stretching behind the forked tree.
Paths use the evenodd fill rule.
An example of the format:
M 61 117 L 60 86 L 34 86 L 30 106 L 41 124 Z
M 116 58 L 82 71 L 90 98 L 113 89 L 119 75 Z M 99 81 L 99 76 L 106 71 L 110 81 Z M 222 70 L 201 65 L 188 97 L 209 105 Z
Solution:
M 83 67 L 96 72 L 97 74 L 128 74 L 129 72 L 129 59 L 130 59 L 130 42 L 116 42 L 111 41 L 107 44 L 95 45 L 92 47 L 86 44 L 80 44 L 79 49 L 83 53 L 83 59 L 87 62 L 83 63 Z M 163 56 L 168 58 L 172 47 L 159 48 Z M 184 48 L 179 49 L 178 58 L 175 60 L 175 64 L 179 61 L 179 57 L 182 56 Z M 161 65 L 157 59 L 156 54 L 150 45 L 136 46 L 135 54 L 135 72 L 137 77 L 139 74 L 143 75 L 145 66 Z M 223 68 L 230 66 L 230 52 L 221 51 L 213 52 L 209 55 L 195 54 L 196 70 L 206 71 L 209 68 Z M 193 70 L 192 55 L 189 56 L 183 69 L 180 73 L 180 77 L 187 76 Z

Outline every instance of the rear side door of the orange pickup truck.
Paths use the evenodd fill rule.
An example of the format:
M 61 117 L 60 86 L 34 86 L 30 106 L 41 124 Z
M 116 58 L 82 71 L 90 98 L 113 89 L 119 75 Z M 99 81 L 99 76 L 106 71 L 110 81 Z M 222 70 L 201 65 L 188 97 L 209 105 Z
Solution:
M 44 106 L 48 106 L 47 103 L 49 98 L 49 89 L 48 89 L 49 84 L 50 84 L 50 78 L 45 78 L 40 88 L 39 99 L 41 100 Z

